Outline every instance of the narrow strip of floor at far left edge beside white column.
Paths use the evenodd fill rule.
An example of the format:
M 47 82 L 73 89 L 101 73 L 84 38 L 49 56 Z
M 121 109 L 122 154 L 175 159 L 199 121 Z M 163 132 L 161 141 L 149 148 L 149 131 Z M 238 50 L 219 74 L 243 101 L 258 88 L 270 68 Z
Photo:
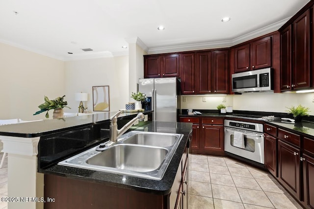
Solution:
M 3 153 L 0 153 L 0 161 Z M 8 196 L 8 157 L 6 156 L 3 167 L 0 168 L 0 198 Z M 7 209 L 7 202 L 0 201 L 0 209 Z

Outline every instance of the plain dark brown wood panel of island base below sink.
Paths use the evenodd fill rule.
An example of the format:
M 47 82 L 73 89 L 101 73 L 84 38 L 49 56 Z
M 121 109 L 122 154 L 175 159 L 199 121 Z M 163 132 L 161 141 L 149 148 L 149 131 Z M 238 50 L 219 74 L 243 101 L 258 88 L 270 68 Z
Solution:
M 169 195 L 45 174 L 44 209 L 168 209 Z

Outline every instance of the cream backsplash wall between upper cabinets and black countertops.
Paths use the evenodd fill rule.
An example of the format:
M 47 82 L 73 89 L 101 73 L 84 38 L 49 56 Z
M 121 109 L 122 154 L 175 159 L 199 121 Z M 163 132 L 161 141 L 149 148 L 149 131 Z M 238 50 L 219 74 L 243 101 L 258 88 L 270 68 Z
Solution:
M 184 98 L 185 97 L 185 98 Z M 184 102 L 184 99 L 186 101 Z M 203 102 L 203 99 L 205 102 Z M 223 100 L 226 102 L 223 102 Z M 240 95 L 207 96 L 181 95 L 181 109 L 215 110 L 218 104 L 233 106 L 234 110 L 285 113 L 286 107 L 302 104 L 314 115 L 314 93 L 242 93 Z

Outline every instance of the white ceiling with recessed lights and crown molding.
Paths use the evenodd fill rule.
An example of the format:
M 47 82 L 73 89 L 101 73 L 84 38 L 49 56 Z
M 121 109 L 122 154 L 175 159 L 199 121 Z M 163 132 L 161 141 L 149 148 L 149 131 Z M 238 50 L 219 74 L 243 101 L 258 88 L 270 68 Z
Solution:
M 148 53 L 232 46 L 277 30 L 307 2 L 0 0 L 0 42 L 60 60 L 127 55 L 136 40 Z

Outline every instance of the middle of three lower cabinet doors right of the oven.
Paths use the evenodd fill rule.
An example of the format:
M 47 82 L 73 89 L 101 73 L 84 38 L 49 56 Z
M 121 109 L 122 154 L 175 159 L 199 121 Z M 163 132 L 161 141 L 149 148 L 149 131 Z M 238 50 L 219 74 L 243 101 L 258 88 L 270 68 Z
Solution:
M 300 199 L 300 150 L 278 140 L 278 180 Z

